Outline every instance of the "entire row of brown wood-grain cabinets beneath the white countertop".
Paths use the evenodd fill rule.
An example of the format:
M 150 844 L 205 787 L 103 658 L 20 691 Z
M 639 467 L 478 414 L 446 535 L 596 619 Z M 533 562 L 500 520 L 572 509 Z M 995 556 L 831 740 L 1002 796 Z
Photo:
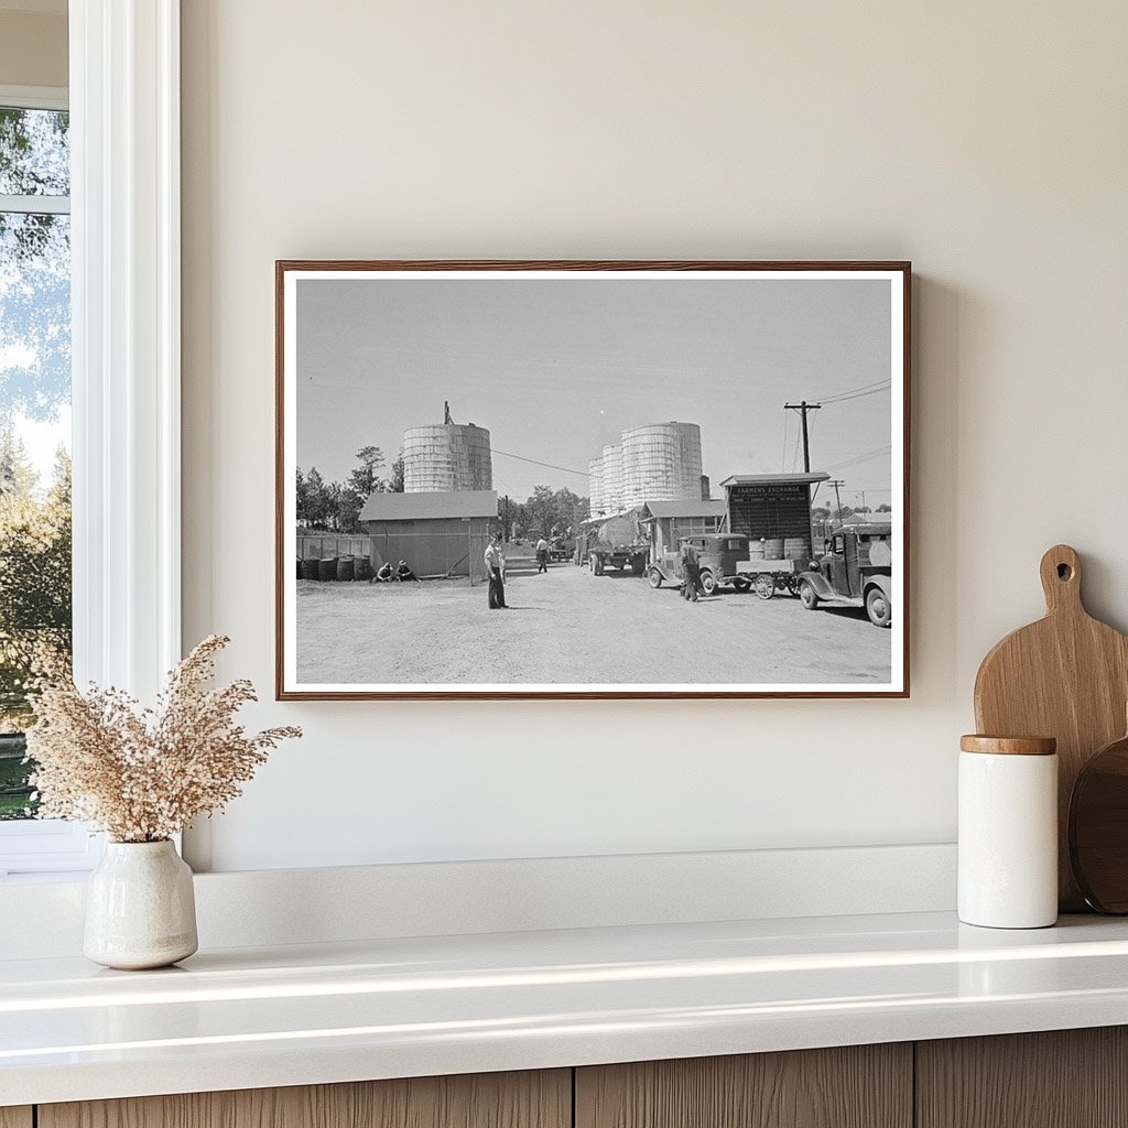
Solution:
M 0 1109 L 0 1128 L 1113 1128 L 1128 1028 Z

